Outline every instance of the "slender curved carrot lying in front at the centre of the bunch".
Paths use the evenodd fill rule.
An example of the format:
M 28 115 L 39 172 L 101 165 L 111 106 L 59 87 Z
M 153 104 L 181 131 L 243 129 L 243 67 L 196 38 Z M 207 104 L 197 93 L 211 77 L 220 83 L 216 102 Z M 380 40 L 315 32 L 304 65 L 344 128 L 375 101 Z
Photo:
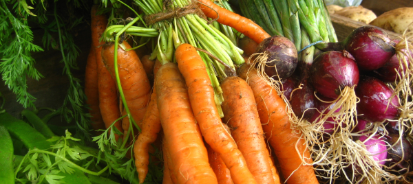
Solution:
M 193 114 L 202 136 L 211 148 L 222 155 L 234 183 L 256 183 L 246 167 L 237 144 L 226 132 L 215 106 L 214 91 L 202 58 L 192 45 L 184 43 L 175 51 L 176 61 L 188 87 Z

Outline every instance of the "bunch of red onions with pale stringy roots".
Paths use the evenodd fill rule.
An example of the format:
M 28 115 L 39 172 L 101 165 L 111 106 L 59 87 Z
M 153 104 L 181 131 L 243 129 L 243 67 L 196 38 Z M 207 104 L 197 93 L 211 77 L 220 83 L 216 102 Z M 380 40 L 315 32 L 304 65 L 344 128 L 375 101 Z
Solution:
M 302 47 L 310 44 L 306 32 L 302 32 L 302 39 Z M 378 165 L 390 167 L 389 163 L 392 163 L 391 168 L 396 170 L 412 170 L 407 164 L 412 146 L 403 138 L 403 122 L 413 117 L 406 115 L 406 109 L 413 106 L 410 89 L 413 58 L 411 50 L 406 49 L 410 43 L 392 41 L 379 27 L 363 26 L 339 43 L 316 46 L 323 52 L 315 58 L 314 46 L 297 55 L 292 42 L 282 36 L 272 36 L 257 47 L 257 54 L 261 55 L 257 56 L 260 61 L 255 62 L 267 78 L 280 82 L 279 91 L 284 92 L 291 110 L 299 119 L 296 127 L 315 127 L 308 133 L 318 133 L 309 133 L 311 135 L 306 137 L 322 135 L 319 138 L 323 141 L 308 139 L 310 146 L 319 144 L 320 148 L 328 150 L 325 145 L 320 146 L 321 143 L 332 146 L 337 144 L 334 140 L 337 138 L 343 144 L 349 142 L 345 139 L 352 143 L 359 140 Z M 315 126 L 302 124 L 303 121 Z M 319 133 L 320 130 L 324 135 Z M 392 133 L 391 137 L 399 133 L 403 139 L 390 139 L 388 133 Z M 350 144 L 343 146 L 350 148 Z M 389 160 L 386 162 L 385 159 Z

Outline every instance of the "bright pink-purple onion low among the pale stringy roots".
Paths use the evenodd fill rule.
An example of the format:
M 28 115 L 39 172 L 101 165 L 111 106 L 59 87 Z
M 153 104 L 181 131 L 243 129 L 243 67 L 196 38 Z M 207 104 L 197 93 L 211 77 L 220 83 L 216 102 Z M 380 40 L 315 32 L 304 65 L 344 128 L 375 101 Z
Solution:
M 365 141 L 368 137 L 366 135 L 360 136 L 359 140 L 360 141 Z M 368 152 L 372 154 L 372 157 L 374 157 L 375 161 L 379 161 L 379 164 L 383 165 L 385 163 L 385 159 L 387 158 L 388 152 L 385 151 L 387 147 L 385 146 L 385 141 L 383 137 L 380 137 L 379 135 L 375 135 L 372 138 L 370 138 L 366 143 L 366 148 Z

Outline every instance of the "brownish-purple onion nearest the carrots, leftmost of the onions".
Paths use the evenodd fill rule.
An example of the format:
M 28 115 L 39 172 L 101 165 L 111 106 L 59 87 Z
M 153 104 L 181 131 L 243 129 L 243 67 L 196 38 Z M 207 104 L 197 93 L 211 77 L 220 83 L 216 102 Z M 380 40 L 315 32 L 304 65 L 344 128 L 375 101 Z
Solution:
M 297 67 L 297 49 L 293 42 L 283 36 L 271 36 L 264 39 L 256 49 L 256 53 L 268 52 L 265 73 L 278 80 L 293 75 Z M 277 70 L 275 69 L 277 67 Z M 278 74 L 277 74 L 278 73 Z

